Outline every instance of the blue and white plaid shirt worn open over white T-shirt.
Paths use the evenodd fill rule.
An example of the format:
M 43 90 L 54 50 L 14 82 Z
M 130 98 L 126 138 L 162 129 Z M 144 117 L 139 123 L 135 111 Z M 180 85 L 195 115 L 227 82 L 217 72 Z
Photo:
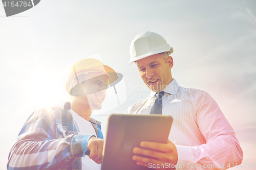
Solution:
M 100 122 L 90 122 L 103 139 Z M 92 135 L 78 135 L 71 113 L 58 107 L 33 112 L 19 132 L 7 169 L 81 169 L 81 157 Z

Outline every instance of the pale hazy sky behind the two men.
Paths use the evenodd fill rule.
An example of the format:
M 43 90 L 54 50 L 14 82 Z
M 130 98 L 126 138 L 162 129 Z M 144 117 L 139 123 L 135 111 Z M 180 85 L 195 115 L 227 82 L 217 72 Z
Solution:
M 103 134 L 108 115 L 144 99 L 150 90 L 129 61 L 132 40 L 145 31 L 173 46 L 173 77 L 217 101 L 236 132 L 243 163 L 255 165 L 256 1 L 42 0 L 10 17 L 0 4 L 0 169 L 33 111 L 69 101 L 67 75 L 77 60 L 96 57 L 123 76 L 118 94 L 109 88 L 93 113 Z

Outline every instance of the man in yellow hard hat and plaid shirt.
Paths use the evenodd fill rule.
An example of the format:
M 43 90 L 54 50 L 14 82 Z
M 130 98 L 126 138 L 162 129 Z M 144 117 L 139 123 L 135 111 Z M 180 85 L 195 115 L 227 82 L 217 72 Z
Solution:
M 70 102 L 63 109 L 42 108 L 31 114 L 10 151 L 7 169 L 99 170 L 103 135 L 100 122 L 90 116 L 101 108 L 106 88 L 116 80 L 115 70 L 99 60 L 74 63 L 66 84 Z

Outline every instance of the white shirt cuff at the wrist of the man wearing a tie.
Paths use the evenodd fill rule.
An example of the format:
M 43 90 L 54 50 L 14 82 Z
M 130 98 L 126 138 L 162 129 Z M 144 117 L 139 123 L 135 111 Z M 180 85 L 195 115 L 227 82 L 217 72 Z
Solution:
M 191 147 L 175 145 L 178 153 L 176 169 L 186 169 L 188 164 L 194 164 L 194 155 Z M 189 166 L 188 166 L 189 167 Z

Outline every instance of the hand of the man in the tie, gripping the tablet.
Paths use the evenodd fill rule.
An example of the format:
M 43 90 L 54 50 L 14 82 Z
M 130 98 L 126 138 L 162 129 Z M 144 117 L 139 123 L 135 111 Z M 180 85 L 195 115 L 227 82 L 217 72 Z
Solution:
M 137 161 L 137 165 L 148 167 L 148 164 L 152 163 L 152 165 L 159 164 L 161 167 L 161 164 L 165 165 L 165 163 L 168 163 L 168 167 L 170 167 L 169 169 L 175 169 L 175 165 L 178 161 L 178 153 L 173 142 L 169 140 L 167 141 L 167 143 L 142 141 L 140 142 L 140 147 L 142 148 L 134 148 L 133 153 L 149 157 L 134 155 L 132 158 L 133 160 Z M 172 168 L 172 164 L 174 168 Z M 166 167 L 155 167 L 155 169 L 167 169 Z

